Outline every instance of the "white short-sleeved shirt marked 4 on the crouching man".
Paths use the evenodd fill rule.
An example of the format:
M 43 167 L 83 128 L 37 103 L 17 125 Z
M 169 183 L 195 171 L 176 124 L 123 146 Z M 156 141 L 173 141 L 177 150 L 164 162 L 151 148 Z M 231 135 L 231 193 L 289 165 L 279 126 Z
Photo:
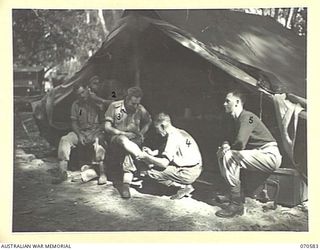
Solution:
M 202 157 L 196 141 L 182 129 L 175 128 L 168 134 L 162 156 L 166 157 L 170 164 L 179 167 L 202 165 Z

